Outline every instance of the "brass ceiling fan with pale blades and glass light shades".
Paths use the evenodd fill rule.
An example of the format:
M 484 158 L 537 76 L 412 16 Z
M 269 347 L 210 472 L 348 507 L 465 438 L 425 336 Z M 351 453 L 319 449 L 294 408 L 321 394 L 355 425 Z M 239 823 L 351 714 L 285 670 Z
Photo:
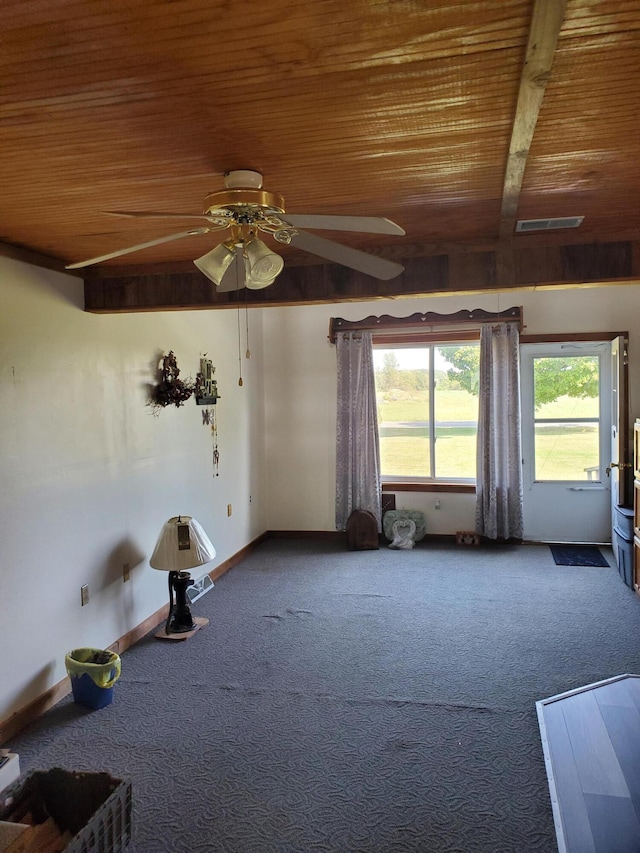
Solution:
M 318 228 L 327 231 L 403 235 L 404 229 L 390 219 L 385 219 L 383 216 L 285 213 L 284 198 L 279 193 L 263 190 L 262 175 L 250 169 L 227 172 L 224 183 L 224 190 L 206 196 L 204 212 L 200 214 L 156 213 L 149 210 L 106 211 L 111 216 L 136 219 L 199 219 L 205 220 L 208 224 L 159 237 L 157 240 L 150 240 L 127 249 L 119 249 L 97 258 L 67 264 L 66 269 L 79 269 L 98 264 L 101 261 L 168 243 L 170 240 L 179 240 L 182 237 L 195 237 L 229 230 L 230 234 L 224 242 L 194 260 L 196 267 L 215 283 L 219 291 L 239 290 L 242 287 L 260 290 L 273 284 L 282 272 L 284 260 L 259 239 L 259 233 L 269 234 L 278 243 L 290 244 L 313 255 L 385 281 L 395 278 L 404 270 L 401 264 L 394 261 L 361 252 L 359 249 L 352 249 L 342 243 L 335 243 L 302 230 Z

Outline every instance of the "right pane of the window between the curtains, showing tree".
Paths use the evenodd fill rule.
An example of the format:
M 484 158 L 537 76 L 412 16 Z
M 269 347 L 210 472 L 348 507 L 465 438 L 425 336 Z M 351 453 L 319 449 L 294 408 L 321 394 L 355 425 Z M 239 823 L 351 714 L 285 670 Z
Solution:
M 477 344 L 434 348 L 438 478 L 476 477 L 479 353 Z

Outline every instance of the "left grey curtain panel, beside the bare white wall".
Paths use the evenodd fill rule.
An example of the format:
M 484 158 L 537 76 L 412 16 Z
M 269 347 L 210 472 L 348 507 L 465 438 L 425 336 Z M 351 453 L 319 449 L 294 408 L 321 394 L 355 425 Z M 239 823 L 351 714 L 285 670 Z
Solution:
M 346 530 L 354 509 L 372 512 L 381 524 L 380 444 L 369 331 L 336 335 L 336 530 Z

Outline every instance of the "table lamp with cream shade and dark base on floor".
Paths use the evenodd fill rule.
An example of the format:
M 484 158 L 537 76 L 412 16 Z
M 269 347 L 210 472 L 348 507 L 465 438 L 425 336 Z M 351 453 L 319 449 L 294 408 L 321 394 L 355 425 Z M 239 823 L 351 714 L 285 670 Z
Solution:
M 188 569 L 203 566 L 215 555 L 215 548 L 195 518 L 178 515 L 163 525 L 149 565 L 169 572 L 169 615 L 164 636 L 180 639 L 207 624 L 206 619 L 194 620 L 191 615 L 187 589 L 194 581 Z

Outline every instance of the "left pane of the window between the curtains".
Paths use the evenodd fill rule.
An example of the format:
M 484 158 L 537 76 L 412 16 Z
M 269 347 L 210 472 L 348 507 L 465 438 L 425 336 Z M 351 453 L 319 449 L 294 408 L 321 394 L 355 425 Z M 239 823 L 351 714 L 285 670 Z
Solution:
M 383 476 L 430 477 L 429 350 L 373 352 Z

